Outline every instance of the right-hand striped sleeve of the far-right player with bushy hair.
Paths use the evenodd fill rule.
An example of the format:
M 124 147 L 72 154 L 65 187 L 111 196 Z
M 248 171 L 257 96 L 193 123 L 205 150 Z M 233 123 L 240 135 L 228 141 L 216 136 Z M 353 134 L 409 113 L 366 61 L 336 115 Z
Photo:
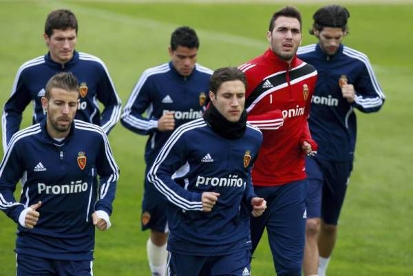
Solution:
M 356 98 L 352 107 L 364 113 L 378 112 L 384 104 L 385 95 L 367 56 L 359 56 L 358 59 L 364 63 L 364 66 L 362 74 L 353 83 Z

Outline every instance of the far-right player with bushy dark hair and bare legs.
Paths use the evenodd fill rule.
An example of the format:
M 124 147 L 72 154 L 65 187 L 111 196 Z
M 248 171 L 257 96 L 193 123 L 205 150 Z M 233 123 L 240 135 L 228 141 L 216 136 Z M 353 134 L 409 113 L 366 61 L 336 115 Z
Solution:
M 354 159 L 357 131 L 354 109 L 377 112 L 385 100 L 368 57 L 341 44 L 348 34 L 349 17 L 348 10 L 338 5 L 320 8 L 313 15 L 310 30 L 319 43 L 298 50 L 299 58 L 319 72 L 308 122 L 319 152 L 306 160 L 310 182 L 306 276 L 317 275 L 318 262 L 319 276 L 325 275 L 335 245 L 337 222 Z

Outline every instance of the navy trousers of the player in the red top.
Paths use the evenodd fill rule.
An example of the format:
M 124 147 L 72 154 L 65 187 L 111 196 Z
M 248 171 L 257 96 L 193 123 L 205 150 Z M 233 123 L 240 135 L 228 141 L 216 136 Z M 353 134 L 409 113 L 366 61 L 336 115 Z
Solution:
M 253 251 L 266 228 L 278 276 L 301 276 L 307 190 L 307 180 L 275 187 L 254 187 L 257 196 L 266 200 L 267 209 L 260 217 L 251 218 Z

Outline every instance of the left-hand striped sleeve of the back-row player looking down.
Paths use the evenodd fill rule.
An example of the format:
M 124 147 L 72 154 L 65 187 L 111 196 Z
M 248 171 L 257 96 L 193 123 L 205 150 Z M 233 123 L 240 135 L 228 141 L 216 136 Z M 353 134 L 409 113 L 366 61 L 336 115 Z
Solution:
M 147 83 L 147 74 L 145 71 L 132 89 L 120 118 L 120 123 L 124 127 L 141 135 L 151 134 L 158 128 L 157 119 L 142 116 L 147 112 L 147 117 L 149 117 L 151 113 L 151 93 Z

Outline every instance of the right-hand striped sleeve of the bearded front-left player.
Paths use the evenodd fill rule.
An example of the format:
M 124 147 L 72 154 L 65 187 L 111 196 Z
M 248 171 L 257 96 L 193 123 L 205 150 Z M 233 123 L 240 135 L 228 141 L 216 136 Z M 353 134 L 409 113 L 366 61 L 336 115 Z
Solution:
M 99 176 L 99 198 L 95 210 L 103 210 L 112 214 L 112 202 L 115 199 L 116 182 L 119 178 L 119 168 L 114 160 L 107 136 L 102 134 L 100 150 L 96 158 L 96 168 Z

